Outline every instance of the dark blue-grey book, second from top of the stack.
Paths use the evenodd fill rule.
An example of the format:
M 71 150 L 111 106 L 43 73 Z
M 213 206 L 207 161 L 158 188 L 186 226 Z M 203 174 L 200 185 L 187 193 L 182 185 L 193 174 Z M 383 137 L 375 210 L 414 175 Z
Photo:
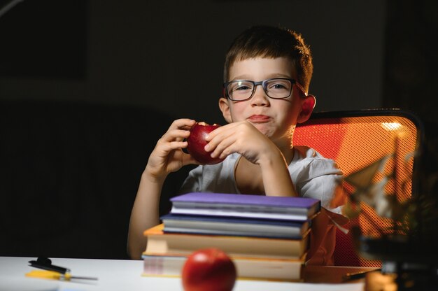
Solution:
M 310 220 L 267 220 L 204 215 L 167 214 L 161 217 L 164 232 L 216 234 L 223 236 L 257 236 L 302 239 Z

